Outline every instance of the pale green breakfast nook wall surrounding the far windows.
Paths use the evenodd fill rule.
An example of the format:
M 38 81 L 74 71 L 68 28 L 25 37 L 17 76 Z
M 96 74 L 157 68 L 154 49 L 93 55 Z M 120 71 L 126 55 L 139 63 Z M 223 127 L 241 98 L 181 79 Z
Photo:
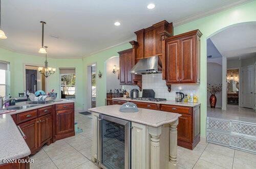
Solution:
M 8 40 L 8 39 L 7 39 Z M 0 48 L 0 60 L 10 62 L 10 94 L 17 96 L 24 91 L 24 65 L 44 65 L 45 57 L 17 53 Z M 83 64 L 82 59 L 52 59 L 48 58 L 49 66 L 56 68 L 55 74 L 49 76 L 49 90 L 54 89 L 60 97 L 58 68 L 76 68 L 76 109 L 83 109 Z M 49 91 L 46 91 L 47 93 Z

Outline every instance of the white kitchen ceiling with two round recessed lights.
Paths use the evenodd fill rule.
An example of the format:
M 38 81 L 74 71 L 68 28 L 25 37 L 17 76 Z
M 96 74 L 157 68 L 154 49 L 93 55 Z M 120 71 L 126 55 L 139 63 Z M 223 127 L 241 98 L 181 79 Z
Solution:
M 43 20 L 47 22 L 45 45 L 49 46 L 49 57 L 87 57 L 102 49 L 129 41 L 135 37 L 135 31 L 164 19 L 174 22 L 185 18 L 188 21 L 187 17 L 191 15 L 195 19 L 245 2 L 248 1 L 2 1 L 2 29 L 8 39 L 0 40 L 0 46 L 16 52 L 38 55 L 41 46 L 39 21 Z M 154 3 L 156 8 L 148 10 L 146 6 L 149 3 Z M 115 26 L 115 21 L 121 22 L 121 25 Z

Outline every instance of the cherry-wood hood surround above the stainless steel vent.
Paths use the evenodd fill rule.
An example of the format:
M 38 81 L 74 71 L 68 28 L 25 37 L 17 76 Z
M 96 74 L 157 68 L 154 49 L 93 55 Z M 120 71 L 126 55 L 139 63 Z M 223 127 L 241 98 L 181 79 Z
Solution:
M 146 29 L 135 32 L 137 36 L 137 42 L 131 41 L 133 46 L 133 54 L 135 63 L 143 58 L 153 57 L 158 55 L 162 62 L 163 79 L 166 78 L 165 73 L 165 57 L 163 57 L 164 39 L 173 36 L 173 23 L 169 23 L 166 20 L 153 24 Z

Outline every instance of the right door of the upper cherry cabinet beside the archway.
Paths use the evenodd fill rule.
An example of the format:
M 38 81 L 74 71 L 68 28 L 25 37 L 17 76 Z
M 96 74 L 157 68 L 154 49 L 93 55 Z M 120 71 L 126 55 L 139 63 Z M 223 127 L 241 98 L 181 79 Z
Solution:
M 193 83 L 195 80 L 195 36 L 182 38 L 180 40 L 180 73 L 179 79 L 182 83 Z

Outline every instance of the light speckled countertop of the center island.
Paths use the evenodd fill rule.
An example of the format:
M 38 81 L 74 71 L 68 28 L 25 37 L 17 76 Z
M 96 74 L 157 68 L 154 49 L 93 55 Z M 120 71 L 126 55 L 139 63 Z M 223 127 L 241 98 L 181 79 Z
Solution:
M 159 127 L 164 124 L 172 123 L 181 116 L 173 112 L 145 108 L 138 108 L 138 112 L 121 112 L 119 111 L 119 108 L 120 105 L 109 105 L 90 108 L 89 110 L 98 112 L 99 114 L 109 115 L 119 119 L 128 120 L 152 127 Z

